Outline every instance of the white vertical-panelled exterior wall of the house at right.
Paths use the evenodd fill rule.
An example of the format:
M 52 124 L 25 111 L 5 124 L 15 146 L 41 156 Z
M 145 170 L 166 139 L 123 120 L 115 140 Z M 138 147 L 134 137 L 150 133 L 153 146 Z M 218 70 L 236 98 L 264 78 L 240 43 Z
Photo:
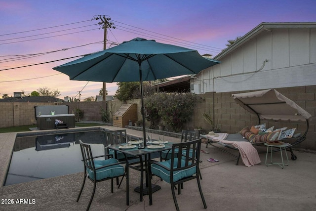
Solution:
M 216 58 L 215 58 L 216 59 Z M 191 84 L 199 92 L 229 92 L 316 84 L 316 29 L 262 30 L 221 64 L 203 70 Z

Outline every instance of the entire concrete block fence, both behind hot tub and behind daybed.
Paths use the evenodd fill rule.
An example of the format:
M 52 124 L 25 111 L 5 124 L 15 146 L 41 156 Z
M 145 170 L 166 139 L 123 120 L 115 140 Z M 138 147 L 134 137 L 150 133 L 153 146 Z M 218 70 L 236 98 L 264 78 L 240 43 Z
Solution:
M 276 90 L 289 99 L 295 101 L 299 106 L 312 115 L 312 120 L 309 122 L 307 138 L 301 144 L 297 145 L 297 147 L 316 150 L 316 85 L 276 88 Z M 185 123 L 182 129 L 202 127 L 203 132 L 208 132 L 210 130 L 210 126 L 202 116 L 204 112 L 210 113 L 215 117 L 215 122 L 221 128 L 222 132 L 236 133 L 243 127 L 257 125 L 257 116 L 251 115 L 237 105 L 232 98 L 233 93 L 239 92 L 208 92 L 199 94 L 198 96 L 200 99 L 196 103 L 191 122 Z M 108 101 L 107 103 L 108 108 L 111 109 L 112 112 L 118 110 L 118 108 L 122 105 L 122 102 L 118 100 Z M 127 103 L 137 104 L 137 116 L 140 120 L 142 118 L 140 113 L 140 99 L 129 100 Z M 34 106 L 36 105 L 54 105 L 54 103 L 0 103 L 0 127 L 36 125 L 34 115 Z M 62 105 L 69 105 L 70 113 L 72 113 L 72 111 L 75 112 L 76 108 L 82 110 L 84 115 L 81 121 L 101 121 L 100 107 L 105 108 L 106 106 L 104 101 L 72 102 L 63 103 Z M 301 122 L 262 121 L 262 123 L 266 123 L 267 127 L 275 126 L 275 128 L 295 127 L 298 132 L 304 132 L 306 130 L 306 123 Z

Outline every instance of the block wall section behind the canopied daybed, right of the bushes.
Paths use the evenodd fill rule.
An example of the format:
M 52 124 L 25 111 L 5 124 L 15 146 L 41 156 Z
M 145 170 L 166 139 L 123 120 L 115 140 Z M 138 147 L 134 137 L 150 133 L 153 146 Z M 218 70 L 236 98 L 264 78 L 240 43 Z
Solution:
M 298 148 L 316 150 L 316 85 L 276 88 L 276 90 L 287 98 L 296 102 L 299 106 L 312 115 L 312 120 L 309 122 L 309 130 L 306 140 L 296 146 Z M 222 132 L 237 133 L 243 127 L 257 125 L 259 123 L 257 116 L 250 114 L 242 107 L 237 105 L 232 98 L 233 93 L 240 92 L 209 92 L 198 95 L 201 97 L 201 100 L 197 102 L 192 121 L 188 124 L 185 124 L 184 129 L 203 127 L 204 132 L 208 132 L 210 126 L 204 120 L 202 116 L 203 112 L 210 112 L 212 115 L 214 114 L 215 122 L 219 124 Z M 295 127 L 296 131 L 301 133 L 304 133 L 307 128 L 306 122 L 279 122 L 263 120 L 261 123 L 266 123 L 267 127 L 275 126 L 275 128 Z

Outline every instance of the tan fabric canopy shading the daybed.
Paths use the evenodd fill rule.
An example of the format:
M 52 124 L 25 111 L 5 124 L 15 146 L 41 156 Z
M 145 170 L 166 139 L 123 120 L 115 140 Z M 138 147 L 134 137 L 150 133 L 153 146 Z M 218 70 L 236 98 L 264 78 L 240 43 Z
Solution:
M 307 121 L 312 115 L 275 89 L 232 94 L 236 103 L 260 119 Z

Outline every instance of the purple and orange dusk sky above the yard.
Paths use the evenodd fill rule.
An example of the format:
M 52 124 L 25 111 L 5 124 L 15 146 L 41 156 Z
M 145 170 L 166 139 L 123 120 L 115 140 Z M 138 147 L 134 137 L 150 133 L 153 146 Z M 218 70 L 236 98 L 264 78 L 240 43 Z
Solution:
M 315 8 L 316 0 L 0 0 L 0 97 L 42 87 L 58 89 L 61 99 L 98 95 L 102 83 L 52 69 L 80 57 L 55 60 L 103 49 L 97 15 L 117 27 L 108 30 L 107 48 L 141 37 L 214 57 L 262 22 L 316 22 Z M 106 86 L 114 95 L 116 83 Z

